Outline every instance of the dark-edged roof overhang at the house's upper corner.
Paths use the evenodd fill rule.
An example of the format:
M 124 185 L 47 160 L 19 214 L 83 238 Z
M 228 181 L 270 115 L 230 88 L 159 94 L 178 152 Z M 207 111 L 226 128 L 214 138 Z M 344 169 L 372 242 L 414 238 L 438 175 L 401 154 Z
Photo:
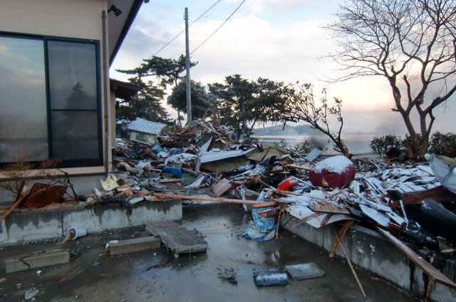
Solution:
M 114 61 L 120 45 L 135 20 L 142 2 L 147 0 L 108 0 L 108 9 L 115 6 L 122 11 L 122 14 L 115 16 L 114 11 L 108 13 L 108 38 L 109 38 L 109 65 Z

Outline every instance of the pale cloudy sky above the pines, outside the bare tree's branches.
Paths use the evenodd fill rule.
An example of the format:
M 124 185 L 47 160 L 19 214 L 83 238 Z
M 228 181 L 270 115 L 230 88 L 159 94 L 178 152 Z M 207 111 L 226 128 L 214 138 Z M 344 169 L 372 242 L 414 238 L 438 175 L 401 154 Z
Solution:
M 151 0 L 143 4 L 122 48 L 115 58 L 110 77 L 126 81 L 115 69 L 132 69 L 143 58 L 150 58 L 185 28 L 185 7 L 190 23 L 216 0 Z M 190 52 L 195 50 L 241 0 L 222 0 L 190 27 Z M 223 82 L 227 75 L 240 74 L 249 80 L 266 77 L 284 82 L 311 82 L 314 91 L 328 89 L 328 96 L 343 100 L 344 131 L 380 134 L 406 133 L 403 121 L 393 107 L 388 82 L 369 77 L 327 85 L 322 79 L 337 75 L 331 60 L 318 59 L 335 45 L 321 26 L 333 18 L 336 0 L 246 0 L 236 14 L 206 43 L 192 53 L 198 65 L 191 70 L 192 80 L 203 84 Z M 177 58 L 185 53 L 182 34 L 157 55 Z M 452 97 L 456 102 L 456 96 Z M 450 102 L 448 102 L 450 104 Z M 452 122 L 454 105 L 435 110 L 433 131 L 456 131 Z M 175 112 L 170 109 L 171 117 Z

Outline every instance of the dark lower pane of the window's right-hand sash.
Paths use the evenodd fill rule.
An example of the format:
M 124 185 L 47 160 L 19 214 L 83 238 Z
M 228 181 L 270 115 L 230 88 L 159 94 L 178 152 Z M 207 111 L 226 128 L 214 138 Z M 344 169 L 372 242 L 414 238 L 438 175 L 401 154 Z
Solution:
M 52 112 L 52 157 L 99 158 L 97 112 Z

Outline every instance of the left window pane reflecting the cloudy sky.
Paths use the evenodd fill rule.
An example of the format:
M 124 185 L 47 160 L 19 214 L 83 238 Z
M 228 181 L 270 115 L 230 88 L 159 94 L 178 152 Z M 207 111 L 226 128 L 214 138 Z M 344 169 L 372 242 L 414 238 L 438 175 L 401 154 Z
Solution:
M 0 162 L 48 158 L 43 41 L 0 36 Z

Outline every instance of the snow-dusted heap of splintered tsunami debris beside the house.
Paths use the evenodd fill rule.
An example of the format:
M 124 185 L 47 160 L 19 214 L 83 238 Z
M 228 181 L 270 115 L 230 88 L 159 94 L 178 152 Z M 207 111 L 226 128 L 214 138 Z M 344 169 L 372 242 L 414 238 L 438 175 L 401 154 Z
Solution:
M 452 171 L 456 165 L 452 166 L 452 161 L 440 156 L 432 156 L 429 163 L 323 158 L 318 150 L 304 156 L 242 145 L 232 141 L 231 135 L 231 129 L 217 122 L 195 121 L 179 134 L 160 136 L 160 146 L 143 150 L 142 154 L 151 156 L 148 163 L 133 163 L 127 158 L 118 168 L 133 163 L 128 171 L 138 177 L 147 177 L 145 172 L 151 171 L 174 178 L 182 177 L 182 172 L 191 173 L 196 178 L 183 188 L 187 189 L 185 194 L 155 188 L 150 195 L 162 200 L 249 205 L 253 221 L 243 235 L 251 239 L 277 237 L 284 215 L 289 215 L 285 224 L 295 217 L 295 225 L 306 223 L 316 228 L 341 222 L 339 232 L 333 229 L 337 239 L 331 251 L 334 255 L 336 249 L 343 249 L 341 240 L 352 225 L 370 227 L 393 242 L 432 280 L 456 287 L 401 241 L 432 251 L 455 252 L 456 188 Z M 193 188 L 208 188 L 214 197 L 192 194 Z M 237 199 L 225 198 L 227 195 Z

